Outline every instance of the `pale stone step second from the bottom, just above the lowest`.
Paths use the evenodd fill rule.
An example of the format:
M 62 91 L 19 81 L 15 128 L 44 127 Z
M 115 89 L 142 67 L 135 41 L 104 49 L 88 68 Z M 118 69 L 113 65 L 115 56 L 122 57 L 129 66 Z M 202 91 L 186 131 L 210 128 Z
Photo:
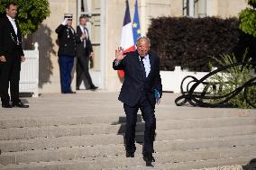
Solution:
M 173 141 L 156 141 L 154 143 L 157 154 L 207 148 L 241 148 L 255 145 L 256 135 L 235 136 L 224 138 L 184 139 Z M 136 144 L 137 154 L 142 153 L 142 145 Z M 29 162 L 63 161 L 83 157 L 105 157 L 124 155 L 123 144 L 109 144 L 98 146 L 84 146 L 72 148 L 49 148 L 20 152 L 4 152 L 0 155 L 0 163 L 19 164 Z

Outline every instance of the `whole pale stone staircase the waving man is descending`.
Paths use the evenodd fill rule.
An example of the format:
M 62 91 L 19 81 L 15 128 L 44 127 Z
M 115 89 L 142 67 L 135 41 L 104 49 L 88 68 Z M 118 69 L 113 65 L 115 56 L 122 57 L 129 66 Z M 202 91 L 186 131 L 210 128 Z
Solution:
M 30 109 L 0 109 L 0 169 L 195 169 L 246 165 L 256 158 L 256 111 L 177 107 L 164 94 L 156 108 L 154 167 L 126 158 L 125 117 L 115 93 L 45 94 Z M 248 169 L 249 170 L 249 169 Z M 251 170 L 251 169 L 250 169 Z M 253 169 L 252 169 L 253 170 Z

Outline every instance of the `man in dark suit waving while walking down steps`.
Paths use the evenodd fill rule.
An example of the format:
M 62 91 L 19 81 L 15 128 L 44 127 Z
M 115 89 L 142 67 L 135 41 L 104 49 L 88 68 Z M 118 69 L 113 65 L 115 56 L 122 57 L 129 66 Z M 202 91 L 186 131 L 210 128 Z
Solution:
M 123 69 L 124 80 L 119 100 L 123 102 L 126 114 L 125 149 L 126 157 L 134 157 L 135 126 L 137 112 L 142 111 L 145 121 L 143 158 L 147 164 L 154 162 L 152 157 L 155 138 L 155 104 L 160 103 L 162 85 L 160 79 L 160 61 L 149 53 L 150 40 L 146 37 L 137 40 L 137 50 L 123 54 L 123 49 L 115 50 L 113 68 Z

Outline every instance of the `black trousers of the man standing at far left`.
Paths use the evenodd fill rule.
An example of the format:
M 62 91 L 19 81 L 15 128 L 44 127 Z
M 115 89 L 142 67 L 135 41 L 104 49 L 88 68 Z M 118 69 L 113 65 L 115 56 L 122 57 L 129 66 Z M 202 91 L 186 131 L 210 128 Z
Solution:
M 14 52 L 8 55 L 6 62 L 0 62 L 0 94 L 2 103 L 9 103 L 10 96 L 8 94 L 9 82 L 11 100 L 13 103 L 19 102 L 19 82 L 21 72 L 21 57 Z

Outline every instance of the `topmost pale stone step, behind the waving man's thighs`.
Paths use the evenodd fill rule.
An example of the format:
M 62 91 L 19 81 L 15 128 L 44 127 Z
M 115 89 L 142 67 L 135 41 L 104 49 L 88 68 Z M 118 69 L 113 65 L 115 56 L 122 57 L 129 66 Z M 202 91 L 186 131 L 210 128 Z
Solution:
M 120 108 L 119 108 L 120 109 Z M 183 111 L 187 110 L 189 111 Z M 204 111 L 204 109 L 206 111 Z M 102 109 L 102 111 L 105 111 Z M 0 129 L 9 129 L 9 128 L 23 128 L 23 127 L 43 127 L 43 126 L 59 126 L 59 125 L 76 125 L 76 124 L 94 124 L 94 123 L 109 123 L 117 124 L 125 122 L 125 115 L 123 111 L 120 113 L 112 112 L 91 112 L 86 113 L 85 115 L 71 114 L 69 115 L 40 115 L 36 112 L 33 112 L 33 115 L 29 117 L 20 117 L 16 118 L 15 114 L 12 118 L 5 118 L 0 114 Z M 30 111 L 32 112 L 32 111 Z M 41 111 L 42 112 L 42 111 Z M 46 112 L 46 111 L 44 111 Z M 51 111 L 53 112 L 53 111 Z M 82 111 L 81 111 L 82 112 Z M 256 118 L 256 111 L 254 110 L 234 110 L 234 109 L 211 109 L 211 108 L 184 108 L 176 109 L 169 112 L 166 111 L 166 108 L 158 108 L 156 111 L 156 118 L 158 121 L 165 120 L 186 120 L 186 119 L 208 119 L 208 118 L 233 118 L 233 117 L 250 117 L 251 119 Z M 138 114 L 138 121 L 142 121 L 142 115 Z

